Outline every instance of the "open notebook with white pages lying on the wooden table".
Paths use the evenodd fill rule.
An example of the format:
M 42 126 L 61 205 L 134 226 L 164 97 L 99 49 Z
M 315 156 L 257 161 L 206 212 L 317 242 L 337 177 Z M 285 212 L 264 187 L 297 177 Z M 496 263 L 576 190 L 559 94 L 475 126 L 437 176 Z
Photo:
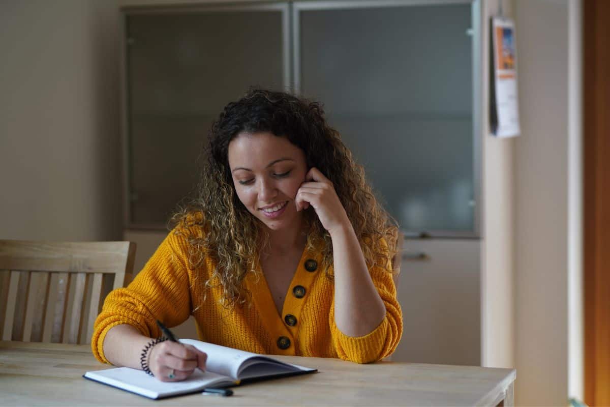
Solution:
M 206 372 L 195 370 L 184 381 L 163 382 L 147 375 L 142 370 L 129 367 L 95 370 L 84 378 L 118 387 L 149 398 L 164 398 L 179 394 L 202 391 L 206 387 L 229 387 L 249 381 L 266 380 L 281 376 L 316 372 L 310 369 L 280 362 L 268 356 L 243 350 L 208 344 L 195 339 L 181 339 L 207 353 Z

